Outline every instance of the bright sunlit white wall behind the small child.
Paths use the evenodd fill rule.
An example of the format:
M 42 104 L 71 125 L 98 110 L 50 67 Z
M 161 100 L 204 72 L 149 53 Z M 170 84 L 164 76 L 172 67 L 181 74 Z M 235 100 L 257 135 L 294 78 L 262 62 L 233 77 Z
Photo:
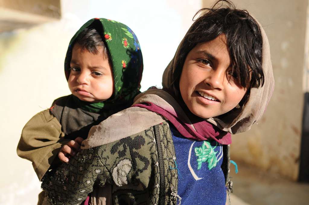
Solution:
M 26 2 L 26 1 L 25 1 Z M 0 204 L 36 204 L 40 182 L 29 161 L 16 155 L 25 123 L 70 94 L 63 62 L 70 38 L 88 19 L 103 17 L 127 24 L 144 57 L 142 91 L 161 86 L 164 68 L 201 8 L 200 0 L 61 2 L 62 19 L 0 34 Z

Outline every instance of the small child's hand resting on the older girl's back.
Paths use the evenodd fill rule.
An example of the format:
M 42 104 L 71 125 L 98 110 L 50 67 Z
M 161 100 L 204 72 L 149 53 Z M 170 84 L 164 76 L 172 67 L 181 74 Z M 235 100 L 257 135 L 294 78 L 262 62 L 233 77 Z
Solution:
M 58 157 L 62 162 L 68 162 L 71 156 L 75 156 L 80 151 L 80 145 L 83 142 L 83 138 L 77 137 L 75 140 L 71 140 L 67 144 L 63 145 L 58 153 Z

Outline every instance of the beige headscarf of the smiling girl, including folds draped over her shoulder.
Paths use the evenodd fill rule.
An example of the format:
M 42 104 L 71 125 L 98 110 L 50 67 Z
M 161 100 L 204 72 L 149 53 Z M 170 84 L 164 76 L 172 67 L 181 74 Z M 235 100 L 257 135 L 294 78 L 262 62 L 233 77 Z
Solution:
M 256 21 L 257 22 L 257 21 Z M 258 23 L 258 22 L 257 22 Z M 260 26 L 263 39 L 262 47 L 262 67 L 264 72 L 264 86 L 251 88 L 248 101 L 238 109 L 233 109 L 229 115 L 224 117 L 205 119 L 223 131 L 236 134 L 249 130 L 252 124 L 256 123 L 263 115 L 266 106 L 273 94 L 274 78 L 270 61 L 269 42 L 264 29 Z M 180 44 L 183 44 L 184 40 Z M 174 62 L 177 62 L 179 48 L 176 54 L 163 73 L 163 89 L 171 89 L 171 75 L 174 72 Z M 142 102 L 152 102 L 159 107 L 174 109 L 174 113 L 183 122 L 190 123 L 190 119 L 184 113 L 179 103 L 167 92 L 160 89 L 147 90 L 139 94 L 134 99 L 133 104 Z M 141 107 L 130 107 L 111 115 L 97 126 L 93 126 L 89 132 L 87 140 L 82 143 L 82 149 L 108 144 L 120 140 L 127 136 L 141 132 L 151 126 L 165 121 L 164 117 Z M 193 127 L 194 128 L 194 127 Z

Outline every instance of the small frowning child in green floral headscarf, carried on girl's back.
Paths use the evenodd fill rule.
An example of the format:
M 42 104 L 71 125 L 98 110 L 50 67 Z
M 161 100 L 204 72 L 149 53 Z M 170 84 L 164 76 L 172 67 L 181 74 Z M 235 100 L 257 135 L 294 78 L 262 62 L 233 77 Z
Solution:
M 139 42 L 129 27 L 109 19 L 89 20 L 66 54 L 72 94 L 29 120 L 17 147 L 19 157 L 32 161 L 40 180 L 59 161 L 68 162 L 93 125 L 132 105 L 140 93 L 142 70 Z

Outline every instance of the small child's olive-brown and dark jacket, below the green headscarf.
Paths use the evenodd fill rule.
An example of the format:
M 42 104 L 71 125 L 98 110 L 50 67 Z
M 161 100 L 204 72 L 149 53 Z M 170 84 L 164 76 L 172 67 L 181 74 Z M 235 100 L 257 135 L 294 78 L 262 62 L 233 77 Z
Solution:
M 17 154 L 32 161 L 40 180 L 52 164 L 60 163 L 57 153 L 63 144 L 76 137 L 86 139 L 92 126 L 130 106 L 95 113 L 77 107 L 74 98 L 73 95 L 58 98 L 50 109 L 33 116 L 23 128 Z

